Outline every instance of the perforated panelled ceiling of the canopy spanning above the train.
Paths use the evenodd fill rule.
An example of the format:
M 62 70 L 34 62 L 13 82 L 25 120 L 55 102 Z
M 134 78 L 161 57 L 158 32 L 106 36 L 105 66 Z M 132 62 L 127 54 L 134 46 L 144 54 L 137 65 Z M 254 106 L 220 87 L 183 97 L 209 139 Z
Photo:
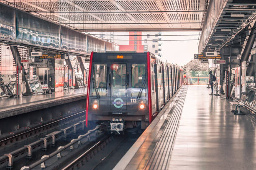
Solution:
M 208 5 L 208 0 L 0 0 L 0 2 L 81 31 L 200 31 Z

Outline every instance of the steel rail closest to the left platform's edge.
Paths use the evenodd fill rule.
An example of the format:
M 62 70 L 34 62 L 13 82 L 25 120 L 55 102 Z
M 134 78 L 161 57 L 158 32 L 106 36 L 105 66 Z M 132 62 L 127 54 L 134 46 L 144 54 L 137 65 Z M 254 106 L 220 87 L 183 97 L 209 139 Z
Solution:
M 17 135 L 11 136 L 11 137 L 9 137 L 9 138 L 5 138 L 5 139 L 3 139 L 3 140 L 0 140 L 0 147 L 3 145 L 3 143 L 6 144 L 6 143 L 7 143 L 8 141 L 10 141 L 10 140 L 13 140 L 13 139 L 18 138 L 18 137 L 23 136 L 23 135 L 26 135 L 26 134 L 28 134 L 28 133 L 33 133 L 33 132 L 36 131 L 36 130 L 40 130 L 40 129 L 44 128 L 44 127 L 47 127 L 47 126 L 49 126 L 49 125 L 53 125 L 53 124 L 58 123 L 58 122 L 60 122 L 60 121 L 62 121 L 62 120 L 66 120 L 66 119 L 68 119 L 68 118 L 70 118 L 70 117 L 74 117 L 74 116 L 79 115 L 79 114 L 81 114 L 81 113 L 83 113 L 83 112 L 85 112 L 85 110 L 84 110 L 84 111 L 81 111 L 81 112 L 77 112 L 77 113 L 75 113 L 75 114 L 73 114 L 73 115 L 70 115 L 70 116 L 61 118 L 61 119 L 59 119 L 59 120 L 55 120 L 54 122 L 47 123 L 47 124 L 42 125 L 42 126 L 39 126 L 39 127 L 37 127 L 37 128 L 33 128 L 33 129 L 28 130 L 28 131 L 26 131 L 26 132 L 19 133 L 19 134 L 17 134 Z

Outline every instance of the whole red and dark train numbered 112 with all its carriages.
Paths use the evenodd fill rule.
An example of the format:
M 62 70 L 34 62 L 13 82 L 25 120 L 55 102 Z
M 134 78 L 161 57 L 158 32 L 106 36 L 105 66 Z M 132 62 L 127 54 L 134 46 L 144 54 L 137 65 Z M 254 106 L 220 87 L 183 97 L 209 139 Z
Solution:
M 151 52 L 91 52 L 86 126 L 145 129 L 182 84 L 182 68 Z

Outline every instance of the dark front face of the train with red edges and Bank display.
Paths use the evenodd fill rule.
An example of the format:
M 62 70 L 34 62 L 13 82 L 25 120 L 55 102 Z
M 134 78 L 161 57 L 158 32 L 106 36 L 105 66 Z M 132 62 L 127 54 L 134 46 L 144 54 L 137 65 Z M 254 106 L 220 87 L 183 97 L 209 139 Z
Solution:
M 108 130 L 118 133 L 125 128 L 146 128 L 149 124 L 147 61 L 146 52 L 92 52 L 87 125 L 103 122 Z

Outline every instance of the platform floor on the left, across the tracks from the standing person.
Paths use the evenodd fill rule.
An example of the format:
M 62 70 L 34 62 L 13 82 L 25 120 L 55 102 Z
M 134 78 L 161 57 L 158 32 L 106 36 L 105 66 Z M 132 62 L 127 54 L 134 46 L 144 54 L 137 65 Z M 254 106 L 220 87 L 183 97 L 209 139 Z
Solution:
M 87 88 L 81 88 L 64 90 L 64 92 L 53 92 L 46 95 L 40 94 L 0 99 L 0 119 L 86 99 L 86 95 Z

